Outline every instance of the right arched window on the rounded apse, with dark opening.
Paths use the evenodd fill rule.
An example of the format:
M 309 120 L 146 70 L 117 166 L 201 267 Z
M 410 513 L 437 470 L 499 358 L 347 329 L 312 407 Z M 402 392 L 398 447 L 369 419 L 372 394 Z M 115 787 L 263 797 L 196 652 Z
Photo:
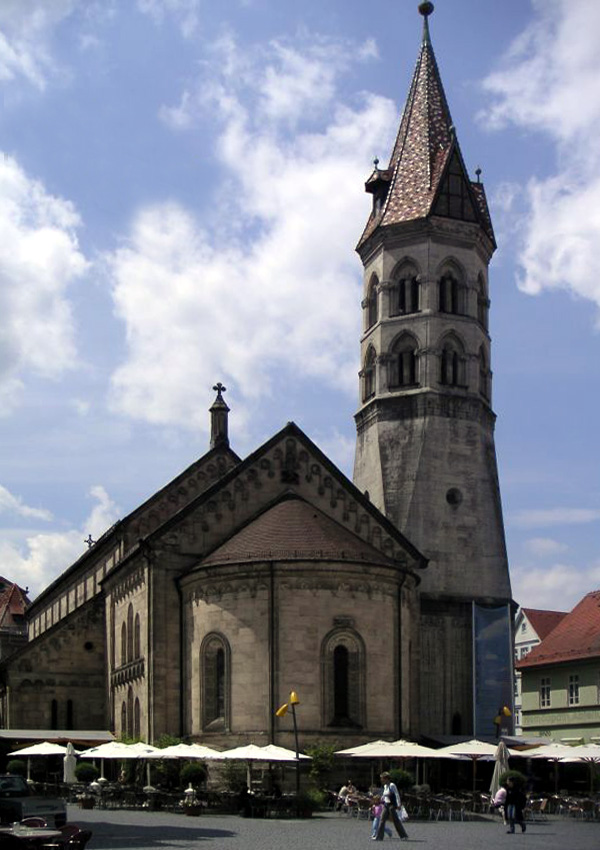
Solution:
M 354 629 L 336 629 L 323 641 L 323 725 L 360 728 L 365 720 L 364 644 Z

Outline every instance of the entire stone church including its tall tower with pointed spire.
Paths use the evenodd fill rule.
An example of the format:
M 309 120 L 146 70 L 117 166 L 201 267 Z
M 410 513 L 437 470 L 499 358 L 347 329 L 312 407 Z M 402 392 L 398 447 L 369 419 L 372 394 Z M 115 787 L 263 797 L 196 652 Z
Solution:
M 0 662 L 4 729 L 293 747 L 276 711 L 294 690 L 301 746 L 498 731 L 514 606 L 488 331 L 496 243 L 433 4 L 419 12 L 397 138 L 365 184 L 354 481 L 292 422 L 240 458 L 216 384 L 206 454 L 28 608 L 27 643 Z

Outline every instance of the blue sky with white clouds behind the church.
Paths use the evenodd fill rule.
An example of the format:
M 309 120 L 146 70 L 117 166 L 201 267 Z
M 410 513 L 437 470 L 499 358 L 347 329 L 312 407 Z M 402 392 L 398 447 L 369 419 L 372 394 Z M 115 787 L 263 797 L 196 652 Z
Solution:
M 483 169 L 514 595 L 600 587 L 600 4 L 439 0 Z M 0 574 L 38 593 L 208 446 L 295 420 L 351 475 L 372 160 L 416 0 L 1 0 Z

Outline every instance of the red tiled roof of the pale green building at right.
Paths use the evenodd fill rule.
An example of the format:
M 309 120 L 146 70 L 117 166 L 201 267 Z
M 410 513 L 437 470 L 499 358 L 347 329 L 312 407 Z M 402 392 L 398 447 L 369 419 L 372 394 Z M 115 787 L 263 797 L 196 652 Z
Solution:
M 600 590 L 588 593 L 561 621 L 522 658 L 517 667 L 526 669 L 546 664 L 600 657 Z

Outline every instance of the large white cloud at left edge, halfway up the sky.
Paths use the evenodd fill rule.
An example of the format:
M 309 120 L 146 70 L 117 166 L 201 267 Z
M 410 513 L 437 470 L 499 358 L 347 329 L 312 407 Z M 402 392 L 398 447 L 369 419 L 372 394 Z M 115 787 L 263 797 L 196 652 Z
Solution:
M 56 377 L 73 365 L 68 287 L 87 268 L 77 213 L 11 157 L 0 156 L 0 397 L 18 403 L 24 376 Z

